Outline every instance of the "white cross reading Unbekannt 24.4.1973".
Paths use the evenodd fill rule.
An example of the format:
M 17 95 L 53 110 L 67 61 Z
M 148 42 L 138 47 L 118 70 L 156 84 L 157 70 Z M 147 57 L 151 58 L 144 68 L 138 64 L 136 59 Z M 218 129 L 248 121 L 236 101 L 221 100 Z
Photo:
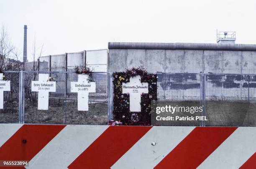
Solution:
M 89 82 L 89 75 L 78 75 L 78 82 L 70 83 L 70 92 L 77 93 L 77 109 L 88 111 L 89 93 L 96 92 L 96 83 Z

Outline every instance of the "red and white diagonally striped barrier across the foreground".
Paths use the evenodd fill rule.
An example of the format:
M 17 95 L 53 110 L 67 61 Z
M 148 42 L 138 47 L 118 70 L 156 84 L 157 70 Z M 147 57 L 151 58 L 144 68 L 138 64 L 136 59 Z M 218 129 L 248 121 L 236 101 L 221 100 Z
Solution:
M 0 124 L 0 160 L 29 160 L 31 169 L 256 169 L 256 127 Z

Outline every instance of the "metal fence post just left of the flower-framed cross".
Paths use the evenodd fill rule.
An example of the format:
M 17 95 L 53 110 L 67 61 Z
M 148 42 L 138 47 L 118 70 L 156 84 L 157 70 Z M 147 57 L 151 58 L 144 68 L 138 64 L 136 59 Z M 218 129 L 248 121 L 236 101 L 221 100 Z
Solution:
M 113 119 L 113 82 L 112 82 L 112 72 L 108 73 L 108 121 Z

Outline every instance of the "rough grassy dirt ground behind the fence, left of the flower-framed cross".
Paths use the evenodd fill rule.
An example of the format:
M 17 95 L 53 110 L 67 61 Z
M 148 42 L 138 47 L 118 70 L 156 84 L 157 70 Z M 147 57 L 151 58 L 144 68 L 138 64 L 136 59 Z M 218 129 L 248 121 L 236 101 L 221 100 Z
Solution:
M 5 109 L 0 112 L 0 123 L 18 123 L 17 110 L 10 112 Z M 15 106 L 16 107 L 16 106 Z M 77 102 L 51 100 L 48 110 L 38 110 L 37 102 L 25 102 L 25 123 L 33 124 L 107 124 L 108 105 L 104 103 L 89 104 L 89 111 L 77 111 Z

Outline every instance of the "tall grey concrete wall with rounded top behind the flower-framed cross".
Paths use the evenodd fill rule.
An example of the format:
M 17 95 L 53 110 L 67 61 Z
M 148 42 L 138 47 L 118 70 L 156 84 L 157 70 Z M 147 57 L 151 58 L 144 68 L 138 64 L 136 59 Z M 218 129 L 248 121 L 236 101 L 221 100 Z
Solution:
M 256 99 L 255 76 L 248 88 L 246 76 L 227 75 L 256 74 L 256 45 L 110 42 L 108 47 L 108 72 L 143 65 L 148 72 L 186 73 L 158 75 L 159 100 L 199 100 L 200 76 L 191 73 L 200 72 L 223 74 L 206 77 L 206 99 Z

